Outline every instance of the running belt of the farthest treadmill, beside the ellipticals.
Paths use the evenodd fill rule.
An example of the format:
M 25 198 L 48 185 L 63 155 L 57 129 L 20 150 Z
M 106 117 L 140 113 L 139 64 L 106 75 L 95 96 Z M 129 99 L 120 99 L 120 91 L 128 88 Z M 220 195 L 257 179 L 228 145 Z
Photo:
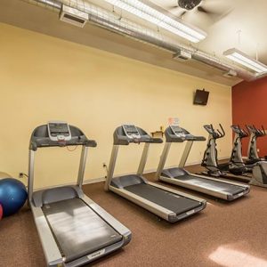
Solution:
M 174 177 L 174 179 L 189 183 L 196 187 L 201 187 L 201 188 L 205 188 L 208 190 L 214 190 L 214 191 L 219 191 L 219 192 L 223 191 L 226 193 L 230 193 L 231 195 L 237 195 L 245 191 L 244 187 L 241 187 L 238 185 L 222 182 L 219 180 L 218 181 L 208 180 L 208 179 L 190 175 L 190 174 Z

